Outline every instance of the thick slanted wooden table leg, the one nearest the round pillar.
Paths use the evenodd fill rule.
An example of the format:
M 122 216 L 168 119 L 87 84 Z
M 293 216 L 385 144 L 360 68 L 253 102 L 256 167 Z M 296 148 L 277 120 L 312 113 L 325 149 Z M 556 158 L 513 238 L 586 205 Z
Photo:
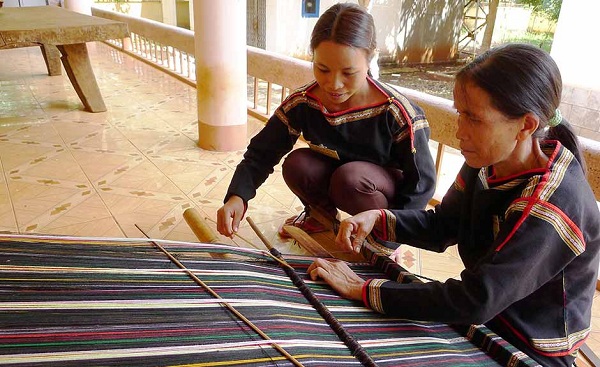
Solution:
M 71 84 L 85 109 L 89 112 L 106 111 L 85 43 L 57 47 Z

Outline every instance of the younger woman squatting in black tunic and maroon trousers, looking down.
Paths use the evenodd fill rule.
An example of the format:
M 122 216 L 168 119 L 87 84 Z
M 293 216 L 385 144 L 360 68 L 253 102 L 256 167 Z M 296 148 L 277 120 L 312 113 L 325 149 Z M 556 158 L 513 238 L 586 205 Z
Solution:
M 237 231 L 248 201 L 290 152 L 300 134 L 310 148 L 283 163 L 285 182 L 306 206 L 332 217 L 375 208 L 424 208 L 433 196 L 435 167 L 429 125 L 419 107 L 369 76 L 375 53 L 371 15 L 335 4 L 317 21 L 310 48 L 315 81 L 294 91 L 250 142 L 237 166 L 217 229 Z M 291 218 L 307 232 L 311 218 Z

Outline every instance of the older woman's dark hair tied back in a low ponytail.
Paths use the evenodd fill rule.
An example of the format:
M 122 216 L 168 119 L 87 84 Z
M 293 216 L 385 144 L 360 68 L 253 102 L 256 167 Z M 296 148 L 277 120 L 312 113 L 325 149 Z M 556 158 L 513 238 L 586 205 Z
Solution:
M 560 105 L 562 78 L 546 51 L 518 43 L 490 49 L 460 70 L 456 82 L 474 83 L 485 90 L 494 107 L 511 118 L 534 113 L 540 125 L 533 136 L 560 141 L 586 172 L 577 135 L 567 120 L 547 128 Z

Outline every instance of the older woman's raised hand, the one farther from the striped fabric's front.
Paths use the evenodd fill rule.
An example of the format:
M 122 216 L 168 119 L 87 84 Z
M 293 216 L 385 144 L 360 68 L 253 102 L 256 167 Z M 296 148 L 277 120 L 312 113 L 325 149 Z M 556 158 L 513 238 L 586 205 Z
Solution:
M 373 227 L 381 226 L 380 223 L 381 211 L 377 209 L 358 213 L 340 223 L 335 242 L 346 251 L 359 253 L 365 238 L 371 233 Z

